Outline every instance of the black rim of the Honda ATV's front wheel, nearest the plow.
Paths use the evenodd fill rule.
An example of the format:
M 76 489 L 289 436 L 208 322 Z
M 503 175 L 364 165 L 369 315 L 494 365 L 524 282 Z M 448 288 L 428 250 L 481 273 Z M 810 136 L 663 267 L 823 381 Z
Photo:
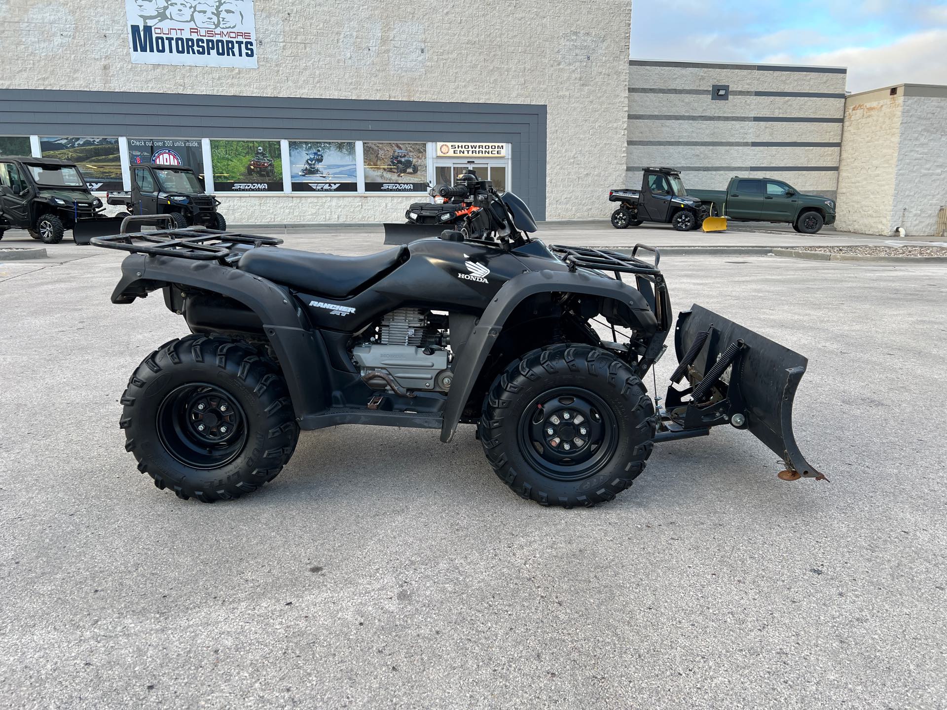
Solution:
M 576 481 L 600 470 L 618 446 L 611 407 L 581 387 L 544 392 L 520 416 L 520 448 L 547 478 Z

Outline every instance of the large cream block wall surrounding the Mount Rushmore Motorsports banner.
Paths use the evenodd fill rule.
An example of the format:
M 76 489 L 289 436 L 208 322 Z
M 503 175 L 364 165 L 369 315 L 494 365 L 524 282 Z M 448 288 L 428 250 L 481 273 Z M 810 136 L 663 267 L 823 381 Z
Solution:
M 468 3 L 449 14 L 439 0 L 255 5 L 259 68 L 235 69 L 132 64 L 117 0 L 13 2 L 0 24 L 0 89 L 542 105 L 548 142 L 527 169 L 545 186 L 548 219 L 599 216 L 602 194 L 622 180 L 630 0 L 589 0 L 581 12 L 555 0 Z M 299 219 L 339 210 L 375 221 L 391 208 L 384 197 L 318 199 Z

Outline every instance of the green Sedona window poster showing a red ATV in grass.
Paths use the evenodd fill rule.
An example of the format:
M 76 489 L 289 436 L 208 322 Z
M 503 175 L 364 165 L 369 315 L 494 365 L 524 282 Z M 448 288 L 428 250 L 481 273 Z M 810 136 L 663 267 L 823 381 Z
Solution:
M 282 192 L 278 140 L 211 140 L 210 161 L 218 192 Z

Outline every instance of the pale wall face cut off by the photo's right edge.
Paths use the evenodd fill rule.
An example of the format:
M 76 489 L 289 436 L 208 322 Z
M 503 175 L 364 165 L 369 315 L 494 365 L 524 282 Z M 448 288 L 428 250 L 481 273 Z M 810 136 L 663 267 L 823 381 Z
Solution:
M 891 224 L 909 236 L 937 235 L 947 205 L 947 86 L 906 84 Z

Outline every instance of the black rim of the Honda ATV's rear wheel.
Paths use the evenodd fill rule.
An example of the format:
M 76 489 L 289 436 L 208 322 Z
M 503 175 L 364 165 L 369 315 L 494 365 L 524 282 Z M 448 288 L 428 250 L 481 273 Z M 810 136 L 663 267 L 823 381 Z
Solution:
M 158 437 L 175 459 L 194 469 L 218 469 L 246 444 L 246 417 L 240 404 L 206 382 L 172 390 L 158 407 Z

